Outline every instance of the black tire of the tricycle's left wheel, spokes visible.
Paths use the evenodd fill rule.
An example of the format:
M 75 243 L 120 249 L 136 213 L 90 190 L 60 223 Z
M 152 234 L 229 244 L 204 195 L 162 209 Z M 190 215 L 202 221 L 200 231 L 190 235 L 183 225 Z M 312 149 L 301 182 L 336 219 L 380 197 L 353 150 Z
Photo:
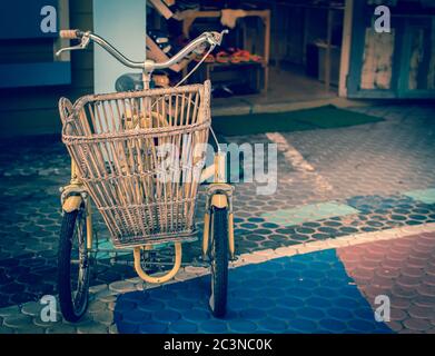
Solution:
M 59 238 L 58 293 L 63 318 L 70 323 L 78 322 L 88 308 L 90 260 L 86 243 L 85 209 L 65 212 Z M 76 257 L 79 263 L 72 265 Z

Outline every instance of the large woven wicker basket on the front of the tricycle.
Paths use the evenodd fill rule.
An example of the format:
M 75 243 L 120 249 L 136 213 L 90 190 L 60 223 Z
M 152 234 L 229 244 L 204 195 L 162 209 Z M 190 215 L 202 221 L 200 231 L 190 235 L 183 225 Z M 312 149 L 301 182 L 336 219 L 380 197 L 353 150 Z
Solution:
M 205 164 L 197 144 L 208 140 L 209 106 L 206 81 L 86 96 L 71 108 L 62 140 L 116 247 L 195 235 L 195 204 Z

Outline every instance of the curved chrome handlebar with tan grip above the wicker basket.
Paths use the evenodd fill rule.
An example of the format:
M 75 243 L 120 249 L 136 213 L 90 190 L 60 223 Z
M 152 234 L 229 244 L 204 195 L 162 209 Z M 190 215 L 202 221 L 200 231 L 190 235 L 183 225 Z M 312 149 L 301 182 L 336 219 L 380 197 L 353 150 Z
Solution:
M 66 47 L 57 51 L 56 56 L 59 56 L 61 52 L 67 50 L 78 50 L 86 49 L 89 44 L 89 41 L 93 41 L 101 46 L 106 51 L 108 51 L 111 56 L 113 56 L 118 61 L 129 68 L 134 69 L 142 69 L 144 71 L 151 72 L 155 69 L 164 69 L 174 66 L 184 59 L 187 55 L 191 53 L 195 49 L 200 47 L 204 43 L 209 43 L 211 47 L 220 46 L 223 41 L 223 37 L 225 33 L 228 33 L 228 30 L 224 30 L 221 32 L 204 32 L 198 36 L 195 40 L 189 42 L 184 49 L 181 49 L 177 55 L 172 56 L 169 60 L 160 63 L 156 63 L 151 60 L 146 60 L 142 62 L 137 62 L 128 59 L 121 52 L 119 52 L 112 44 L 106 41 L 102 37 L 95 34 L 90 31 L 81 31 L 81 30 L 61 30 L 59 32 L 60 38 L 63 39 L 81 39 L 81 42 L 77 46 Z

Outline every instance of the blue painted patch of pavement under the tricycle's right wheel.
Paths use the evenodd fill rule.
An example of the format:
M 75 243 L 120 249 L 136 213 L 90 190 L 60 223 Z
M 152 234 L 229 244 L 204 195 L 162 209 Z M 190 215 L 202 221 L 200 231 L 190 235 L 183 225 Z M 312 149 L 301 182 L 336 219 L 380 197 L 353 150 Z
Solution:
M 208 309 L 209 276 L 118 297 L 119 333 L 390 333 L 335 250 L 230 269 L 228 314 Z M 138 317 L 139 316 L 139 317 Z

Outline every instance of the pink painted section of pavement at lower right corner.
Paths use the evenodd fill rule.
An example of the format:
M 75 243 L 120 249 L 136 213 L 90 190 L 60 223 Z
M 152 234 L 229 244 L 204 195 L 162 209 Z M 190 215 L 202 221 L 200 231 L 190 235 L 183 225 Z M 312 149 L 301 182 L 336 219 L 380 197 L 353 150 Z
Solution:
M 435 334 L 435 233 L 337 249 L 346 271 L 367 301 L 390 299 L 390 322 L 397 333 Z

